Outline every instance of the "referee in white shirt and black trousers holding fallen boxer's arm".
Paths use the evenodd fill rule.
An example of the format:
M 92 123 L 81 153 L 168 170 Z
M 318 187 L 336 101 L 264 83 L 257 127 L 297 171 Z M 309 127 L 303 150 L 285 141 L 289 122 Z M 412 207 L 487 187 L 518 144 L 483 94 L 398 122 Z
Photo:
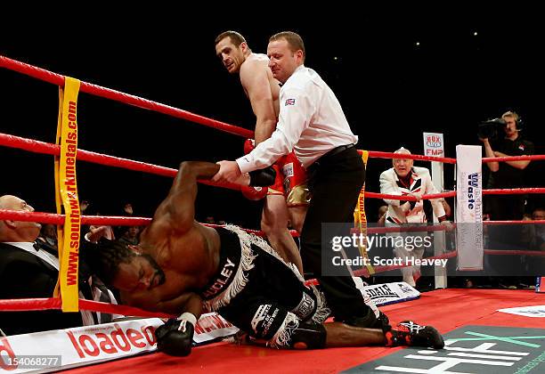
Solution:
M 271 137 L 236 161 L 219 162 L 216 182 L 240 182 L 241 176 L 295 151 L 308 170 L 312 200 L 301 232 L 301 256 L 306 272 L 320 280 L 336 321 L 359 327 L 379 326 L 376 308 L 363 301 L 362 281 L 350 276 L 324 276 L 331 264 L 328 248 L 321 251 L 322 223 L 351 223 L 365 180 L 365 166 L 354 145 L 358 142 L 335 93 L 313 70 L 305 67 L 305 45 L 296 33 L 285 31 L 269 39 L 269 67 L 282 84 L 280 113 Z M 374 306 L 374 305 L 373 305 Z

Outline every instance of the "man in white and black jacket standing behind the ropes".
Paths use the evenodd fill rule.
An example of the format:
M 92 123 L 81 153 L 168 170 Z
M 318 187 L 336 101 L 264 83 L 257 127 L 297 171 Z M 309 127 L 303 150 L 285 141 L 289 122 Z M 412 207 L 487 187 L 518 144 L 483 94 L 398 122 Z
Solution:
M 410 150 L 403 147 L 396 150 L 395 153 L 411 154 Z M 413 196 L 417 201 L 401 201 L 395 199 L 385 199 L 388 204 L 386 210 L 386 226 L 422 224 L 427 223 L 426 213 L 424 211 L 424 202 L 422 195 L 429 193 L 438 193 L 432 183 L 429 170 L 426 167 L 413 167 L 412 159 L 393 159 L 394 167 L 389 168 L 380 175 L 380 193 L 400 196 Z M 451 228 L 444 207 L 440 199 L 431 199 L 431 205 L 434 213 L 441 224 Z M 431 240 L 426 237 L 426 232 L 394 232 L 391 236 L 396 236 L 395 256 L 405 262 L 406 258 L 414 257 L 421 259 L 427 247 L 431 246 Z M 414 240 L 419 237 L 419 240 Z M 397 240 L 397 238 L 405 240 Z M 428 239 L 428 240 L 426 240 Z M 403 245 L 404 243 L 404 245 Z M 417 245 L 421 243 L 421 245 Z M 416 285 L 416 280 L 420 277 L 420 266 L 406 266 L 402 268 L 403 281 L 412 287 Z

